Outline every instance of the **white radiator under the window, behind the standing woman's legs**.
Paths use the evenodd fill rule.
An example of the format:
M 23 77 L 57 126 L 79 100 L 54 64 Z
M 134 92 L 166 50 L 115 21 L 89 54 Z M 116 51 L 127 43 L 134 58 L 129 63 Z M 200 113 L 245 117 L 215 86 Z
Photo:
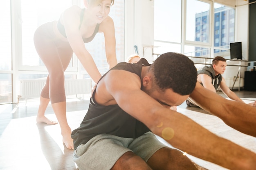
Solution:
M 18 98 L 39 97 L 44 85 L 45 85 L 44 79 L 21 80 L 20 81 L 20 95 L 18 96 Z M 66 95 L 90 94 L 91 90 L 92 90 L 91 78 L 65 80 Z

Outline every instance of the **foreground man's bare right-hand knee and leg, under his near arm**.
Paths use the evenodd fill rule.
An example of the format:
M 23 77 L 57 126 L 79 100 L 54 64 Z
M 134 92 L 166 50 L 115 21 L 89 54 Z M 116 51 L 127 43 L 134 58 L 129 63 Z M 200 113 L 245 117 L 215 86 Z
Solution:
M 153 170 L 197 170 L 194 163 L 177 149 L 165 147 L 157 150 L 149 159 Z

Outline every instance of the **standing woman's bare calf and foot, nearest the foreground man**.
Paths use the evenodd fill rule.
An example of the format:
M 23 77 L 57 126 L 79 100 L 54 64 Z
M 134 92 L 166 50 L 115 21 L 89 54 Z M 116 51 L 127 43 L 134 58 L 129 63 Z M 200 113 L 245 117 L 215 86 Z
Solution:
M 69 149 L 74 149 L 73 139 L 71 138 L 71 128 L 67 124 L 66 102 L 58 102 L 52 104 L 52 108 L 61 126 L 61 135 L 63 143 Z

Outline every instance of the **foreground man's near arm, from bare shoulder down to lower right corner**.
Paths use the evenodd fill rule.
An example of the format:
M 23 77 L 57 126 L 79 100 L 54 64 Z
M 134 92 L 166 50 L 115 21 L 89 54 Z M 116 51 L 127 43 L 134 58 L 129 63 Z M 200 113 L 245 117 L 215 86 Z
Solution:
M 130 79 L 130 74 L 116 71 L 104 77 L 105 85 L 101 87 L 106 86 L 108 92 L 104 97 L 113 97 L 108 104 L 116 102 L 153 133 L 190 155 L 234 170 L 256 167 L 255 153 L 214 135 L 181 113 L 163 107 L 141 91 L 140 80 Z

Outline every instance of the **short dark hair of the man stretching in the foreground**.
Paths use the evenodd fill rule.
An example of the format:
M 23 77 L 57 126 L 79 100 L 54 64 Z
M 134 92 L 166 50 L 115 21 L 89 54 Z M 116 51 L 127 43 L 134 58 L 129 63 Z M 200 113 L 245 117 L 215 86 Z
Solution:
M 177 94 L 188 95 L 195 88 L 197 70 L 193 61 L 183 54 L 161 54 L 150 69 L 155 76 L 155 83 L 162 91 L 171 88 Z

